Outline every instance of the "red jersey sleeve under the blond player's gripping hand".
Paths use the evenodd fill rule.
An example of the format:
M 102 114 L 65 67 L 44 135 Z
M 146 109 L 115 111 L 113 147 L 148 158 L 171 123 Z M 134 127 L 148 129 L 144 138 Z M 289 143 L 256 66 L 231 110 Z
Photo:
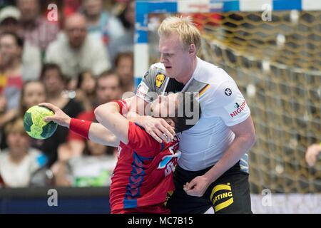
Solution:
M 151 137 L 146 130 L 133 122 L 129 122 L 128 126 L 128 144 L 126 147 L 130 147 L 132 150 L 142 155 L 143 157 L 153 157 L 158 154 L 165 142 L 159 143 Z M 120 146 L 125 144 L 121 142 Z

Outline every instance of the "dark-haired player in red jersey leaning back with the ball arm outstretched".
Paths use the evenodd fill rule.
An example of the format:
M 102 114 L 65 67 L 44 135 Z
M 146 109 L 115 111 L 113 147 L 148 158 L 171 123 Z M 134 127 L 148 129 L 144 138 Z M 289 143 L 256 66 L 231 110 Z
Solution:
M 95 142 L 118 146 L 110 189 L 111 213 L 169 213 L 165 199 L 174 190 L 173 170 L 180 154 L 176 151 L 178 137 L 161 143 L 154 140 L 122 115 L 128 110 L 125 100 L 99 106 L 95 110 L 99 123 L 69 118 L 48 103 L 40 105 L 54 110 L 55 115 L 45 118 L 46 121 L 53 120 Z M 200 105 L 193 95 L 171 93 L 151 103 L 150 114 L 163 118 L 180 133 L 195 125 Z

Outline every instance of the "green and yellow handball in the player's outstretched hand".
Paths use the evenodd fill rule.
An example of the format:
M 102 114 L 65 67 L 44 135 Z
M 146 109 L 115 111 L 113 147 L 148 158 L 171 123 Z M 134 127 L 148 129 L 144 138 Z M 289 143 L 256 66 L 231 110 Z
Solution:
M 49 115 L 54 115 L 54 112 L 44 106 L 34 105 L 29 108 L 24 114 L 26 133 L 37 140 L 51 137 L 57 129 L 57 124 L 53 121 L 44 121 L 44 118 Z

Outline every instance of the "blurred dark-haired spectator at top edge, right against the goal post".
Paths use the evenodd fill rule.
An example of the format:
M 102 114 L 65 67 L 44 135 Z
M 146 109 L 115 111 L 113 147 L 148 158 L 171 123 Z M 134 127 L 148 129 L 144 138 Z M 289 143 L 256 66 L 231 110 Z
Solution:
M 118 38 L 116 41 L 111 41 L 110 54 L 111 58 L 115 58 L 119 52 L 133 52 L 133 35 L 135 28 L 135 1 L 128 1 L 128 5 L 119 16 L 125 29 L 123 36 Z

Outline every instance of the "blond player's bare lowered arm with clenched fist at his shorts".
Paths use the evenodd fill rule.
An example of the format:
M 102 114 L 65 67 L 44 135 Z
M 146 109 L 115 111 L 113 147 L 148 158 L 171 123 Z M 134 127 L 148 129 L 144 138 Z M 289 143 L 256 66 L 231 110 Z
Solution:
M 255 143 L 255 129 L 251 117 L 242 123 L 230 127 L 235 133 L 235 139 L 225 151 L 223 157 L 203 176 L 195 177 L 186 183 L 184 190 L 188 195 L 201 197 L 208 186 L 218 179 L 230 167 L 235 165 L 241 157 L 250 150 Z

